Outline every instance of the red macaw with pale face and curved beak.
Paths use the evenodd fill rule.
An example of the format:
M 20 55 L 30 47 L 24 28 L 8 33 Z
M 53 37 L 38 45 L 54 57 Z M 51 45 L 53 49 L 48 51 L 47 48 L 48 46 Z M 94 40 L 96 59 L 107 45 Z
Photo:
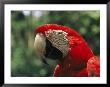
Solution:
M 100 58 L 86 40 L 74 29 L 59 24 L 44 24 L 33 32 L 34 47 L 45 64 L 58 60 L 53 77 L 99 77 Z

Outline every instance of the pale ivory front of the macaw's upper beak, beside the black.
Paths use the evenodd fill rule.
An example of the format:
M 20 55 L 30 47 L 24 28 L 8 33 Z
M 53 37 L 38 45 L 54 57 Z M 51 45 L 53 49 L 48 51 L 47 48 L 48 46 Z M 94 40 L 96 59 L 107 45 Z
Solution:
M 35 37 L 34 47 L 38 57 L 42 58 L 45 52 L 46 42 L 43 34 L 38 33 Z

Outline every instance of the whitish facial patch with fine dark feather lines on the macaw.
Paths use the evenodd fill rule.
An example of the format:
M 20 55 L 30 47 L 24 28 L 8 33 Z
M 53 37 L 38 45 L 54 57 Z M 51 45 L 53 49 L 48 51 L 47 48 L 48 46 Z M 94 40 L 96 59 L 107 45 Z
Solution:
M 66 32 L 62 30 L 48 30 L 45 32 L 46 38 L 52 43 L 54 47 L 63 53 L 63 57 L 67 55 L 69 50 L 69 43 Z

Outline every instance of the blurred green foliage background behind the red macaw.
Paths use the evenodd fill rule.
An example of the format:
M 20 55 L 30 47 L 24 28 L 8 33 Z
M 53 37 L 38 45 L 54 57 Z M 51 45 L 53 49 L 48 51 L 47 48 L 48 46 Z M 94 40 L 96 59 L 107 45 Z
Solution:
M 33 30 L 46 23 L 74 28 L 88 42 L 95 55 L 100 55 L 100 11 L 12 11 L 11 76 L 52 76 L 56 62 L 48 60 L 51 71 L 41 62 L 33 47 Z

